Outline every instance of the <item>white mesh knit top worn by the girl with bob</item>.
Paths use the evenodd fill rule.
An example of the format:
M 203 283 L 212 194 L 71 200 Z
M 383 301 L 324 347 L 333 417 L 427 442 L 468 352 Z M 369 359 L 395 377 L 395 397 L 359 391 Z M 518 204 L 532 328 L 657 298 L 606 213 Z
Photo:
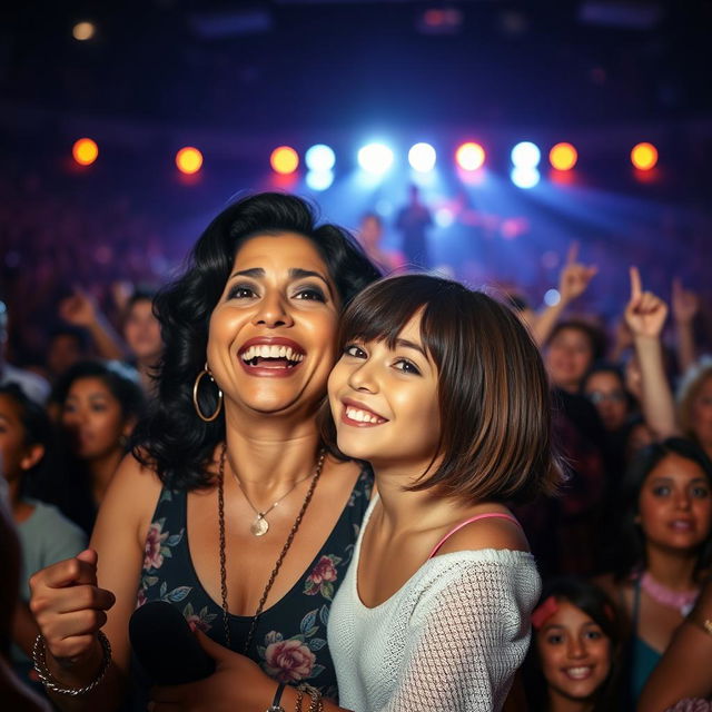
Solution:
M 528 647 L 541 590 L 534 557 L 494 548 L 442 554 L 368 609 L 356 572 L 377 498 L 329 614 L 339 705 L 354 712 L 500 710 Z

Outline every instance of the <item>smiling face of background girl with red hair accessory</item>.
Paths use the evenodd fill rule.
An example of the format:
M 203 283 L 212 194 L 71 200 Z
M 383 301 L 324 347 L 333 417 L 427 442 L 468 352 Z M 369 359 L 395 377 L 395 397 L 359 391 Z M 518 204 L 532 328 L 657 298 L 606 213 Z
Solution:
M 610 639 L 567 601 L 558 601 L 556 613 L 536 633 L 536 649 L 550 696 L 590 700 L 611 671 Z

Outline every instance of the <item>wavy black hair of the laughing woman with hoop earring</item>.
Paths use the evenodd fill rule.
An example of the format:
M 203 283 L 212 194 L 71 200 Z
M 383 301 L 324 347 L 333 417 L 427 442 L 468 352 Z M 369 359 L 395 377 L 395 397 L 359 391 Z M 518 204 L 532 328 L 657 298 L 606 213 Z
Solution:
M 317 225 L 315 208 L 291 195 L 263 192 L 222 210 L 202 233 L 181 276 L 164 287 L 154 301 L 165 344 L 158 367 L 158 388 L 147 418 L 135 432 L 134 454 L 175 490 L 208 484 L 206 465 L 225 437 L 222 413 L 202 422 L 192 404 L 192 385 L 206 360 L 210 314 L 229 277 L 238 248 L 256 235 L 296 233 L 308 238 L 338 290 L 342 308 L 378 269 L 343 228 Z M 201 395 L 204 413 L 217 406 L 217 390 Z M 204 399 L 205 398 L 205 399 Z

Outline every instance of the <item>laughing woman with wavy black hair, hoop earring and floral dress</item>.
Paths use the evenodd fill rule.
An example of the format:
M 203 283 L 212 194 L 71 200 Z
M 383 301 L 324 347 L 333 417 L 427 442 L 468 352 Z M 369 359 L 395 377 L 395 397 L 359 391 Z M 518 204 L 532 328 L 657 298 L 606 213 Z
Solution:
M 52 692 L 62 709 L 116 709 L 128 619 L 156 600 L 261 668 L 261 709 L 278 682 L 336 696 L 326 622 L 372 478 L 325 454 L 316 414 L 342 309 L 378 276 L 293 196 L 245 198 L 208 226 L 156 299 L 156 400 L 91 548 L 32 581 L 40 666 L 80 692 Z

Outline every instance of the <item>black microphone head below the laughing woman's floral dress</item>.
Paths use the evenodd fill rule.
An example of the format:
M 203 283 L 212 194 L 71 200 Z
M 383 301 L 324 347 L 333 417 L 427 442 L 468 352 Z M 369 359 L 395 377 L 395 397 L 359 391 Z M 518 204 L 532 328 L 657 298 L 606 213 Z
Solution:
M 152 684 L 179 685 L 215 672 L 208 655 L 180 611 L 166 601 L 149 601 L 129 620 L 129 640 Z

